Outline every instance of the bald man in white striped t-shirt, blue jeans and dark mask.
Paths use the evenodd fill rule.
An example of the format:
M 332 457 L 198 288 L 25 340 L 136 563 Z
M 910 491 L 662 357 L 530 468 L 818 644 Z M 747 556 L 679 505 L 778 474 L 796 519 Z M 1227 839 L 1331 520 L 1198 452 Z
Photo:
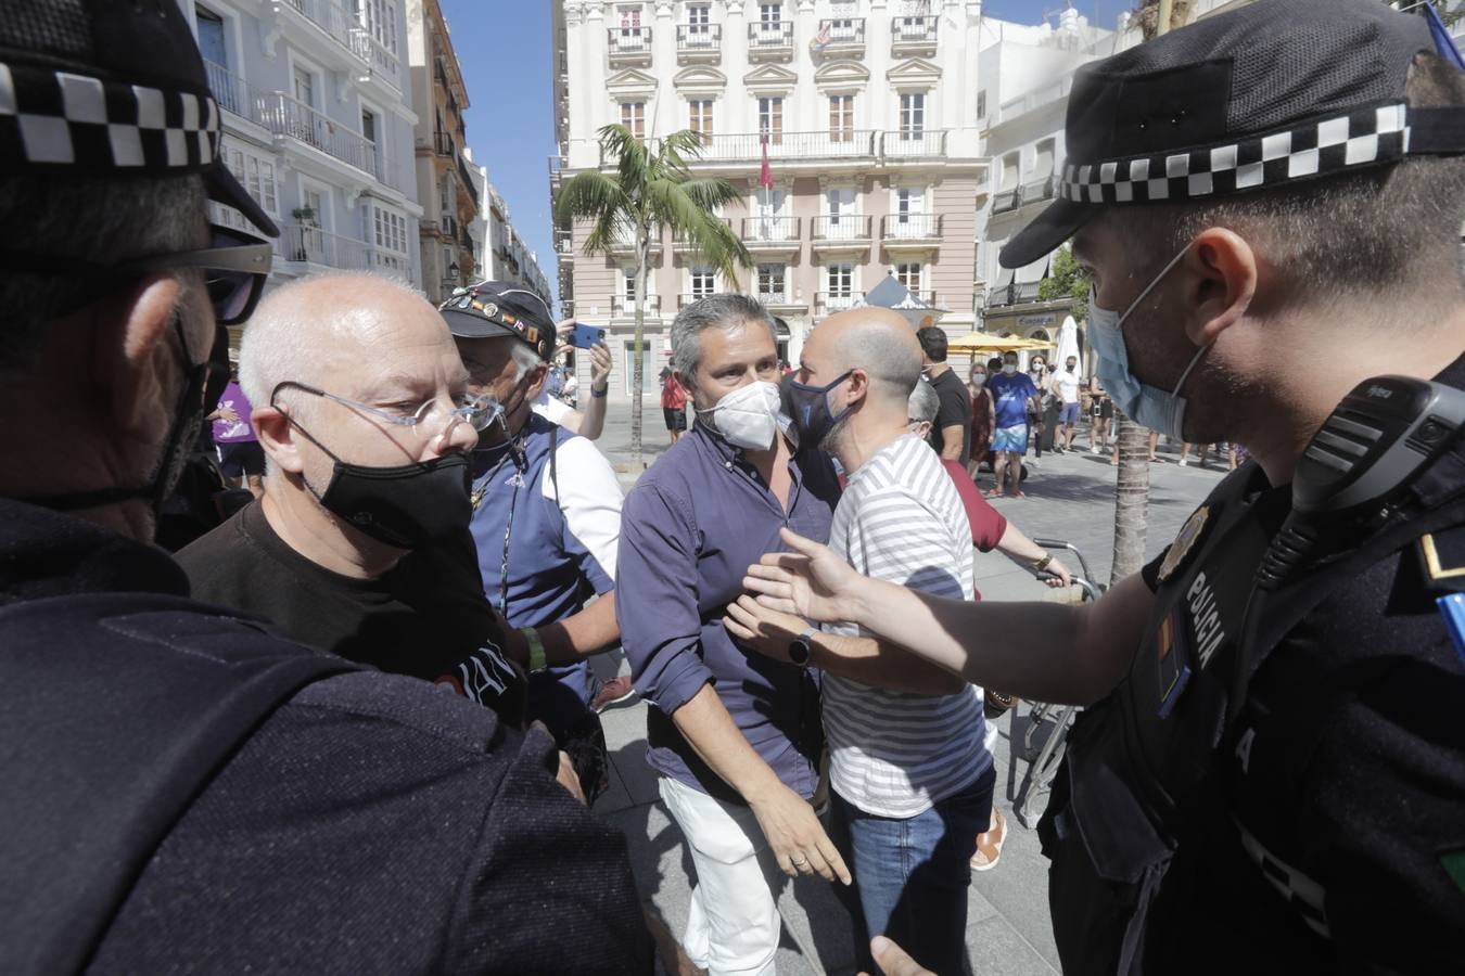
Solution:
M 920 367 L 900 315 L 856 309 L 815 329 L 785 401 L 800 439 L 815 439 L 848 473 L 831 549 L 860 574 L 970 600 L 965 509 L 941 459 L 908 432 Z M 968 862 L 996 778 L 980 691 L 854 625 L 806 628 L 752 600 L 730 607 L 728 629 L 749 647 L 787 660 L 775 635 L 803 631 L 794 658 L 828 669 L 832 838 L 853 866 L 867 934 L 894 938 L 935 972 L 967 973 Z

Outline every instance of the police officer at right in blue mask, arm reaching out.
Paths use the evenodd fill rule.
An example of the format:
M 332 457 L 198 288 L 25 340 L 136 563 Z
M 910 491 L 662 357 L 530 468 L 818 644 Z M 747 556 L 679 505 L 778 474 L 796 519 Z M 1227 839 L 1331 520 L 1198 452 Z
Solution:
M 1370 0 L 1086 66 L 1059 200 L 1002 263 L 1072 237 L 1115 404 L 1254 462 L 1083 609 L 920 598 L 798 538 L 750 569 L 778 609 L 1090 705 L 1040 825 L 1068 973 L 1465 966 L 1465 663 L 1434 600 L 1465 579 L 1462 105 L 1425 20 Z

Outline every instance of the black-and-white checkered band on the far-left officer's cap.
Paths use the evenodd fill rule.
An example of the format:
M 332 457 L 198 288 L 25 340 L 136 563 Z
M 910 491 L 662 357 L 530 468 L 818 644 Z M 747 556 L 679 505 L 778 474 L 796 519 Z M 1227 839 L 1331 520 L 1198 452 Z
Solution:
M 0 61 L 0 167 L 186 173 L 218 158 L 207 94 Z

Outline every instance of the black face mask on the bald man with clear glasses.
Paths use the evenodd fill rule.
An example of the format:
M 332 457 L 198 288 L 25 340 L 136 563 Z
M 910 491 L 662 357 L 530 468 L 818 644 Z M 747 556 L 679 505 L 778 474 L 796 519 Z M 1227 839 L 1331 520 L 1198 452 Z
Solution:
M 349 464 L 293 417 L 290 424 L 335 462 L 324 493 L 309 481 L 305 486 L 327 512 L 377 541 L 397 549 L 425 549 L 467 528 L 473 509 L 469 505 L 472 477 L 466 454 L 445 454 L 431 461 L 385 468 Z

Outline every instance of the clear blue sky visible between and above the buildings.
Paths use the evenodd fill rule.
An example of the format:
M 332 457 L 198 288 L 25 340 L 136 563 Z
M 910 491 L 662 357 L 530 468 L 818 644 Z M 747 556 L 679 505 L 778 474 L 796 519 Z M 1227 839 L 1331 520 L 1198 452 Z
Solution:
M 467 143 L 508 202 L 514 225 L 558 294 L 551 246 L 549 177 L 554 80 L 549 4 L 555 0 L 441 0 L 467 83 Z M 1064 0 L 987 0 L 987 16 L 1037 23 Z M 1075 0 L 1091 23 L 1112 28 L 1137 0 Z M 1096 16 L 1097 15 L 1097 16 Z

